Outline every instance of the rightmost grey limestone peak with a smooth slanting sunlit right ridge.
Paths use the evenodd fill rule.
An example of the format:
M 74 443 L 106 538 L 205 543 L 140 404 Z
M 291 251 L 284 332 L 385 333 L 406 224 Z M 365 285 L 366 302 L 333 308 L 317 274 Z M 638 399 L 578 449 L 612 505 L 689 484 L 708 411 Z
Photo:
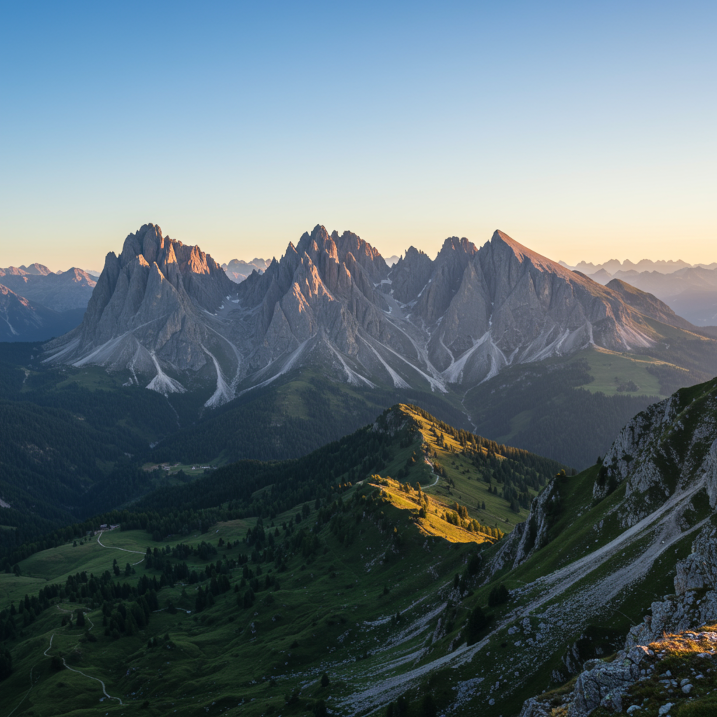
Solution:
M 477 252 L 461 252 L 453 240 L 442 253 L 447 250 L 455 255 L 451 277 L 462 268 L 459 282 L 447 271 L 434 275 L 416 308 L 435 325 L 429 355 L 451 383 L 482 380 L 507 365 L 590 344 L 619 351 L 652 344 L 644 318 L 616 292 L 503 232 Z

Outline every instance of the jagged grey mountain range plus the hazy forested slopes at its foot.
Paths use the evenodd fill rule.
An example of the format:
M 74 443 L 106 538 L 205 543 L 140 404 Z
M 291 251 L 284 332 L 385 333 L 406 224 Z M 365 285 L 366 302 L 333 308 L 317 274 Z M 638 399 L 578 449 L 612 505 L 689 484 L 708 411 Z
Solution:
M 266 456 L 231 428 L 252 401 L 264 402 L 265 436 L 291 420 L 308 430 L 312 415 L 297 447 L 320 445 L 311 431 L 338 437 L 305 393 L 312 385 L 342 396 L 330 400 L 344 432 L 408 400 L 582 467 L 636 412 L 717 372 L 716 343 L 654 296 L 602 286 L 500 231 L 481 248 L 448 238 L 435 259 L 411 247 L 389 267 L 357 235 L 318 225 L 237 284 L 148 224 L 108 254 L 81 325 L 43 361 L 102 367 L 175 397 L 180 413 L 196 406 L 200 423 L 190 436 L 182 419 L 176 443 L 196 447 L 192 460 L 207 431 L 218 452 Z M 232 420 L 205 413 L 225 404 Z

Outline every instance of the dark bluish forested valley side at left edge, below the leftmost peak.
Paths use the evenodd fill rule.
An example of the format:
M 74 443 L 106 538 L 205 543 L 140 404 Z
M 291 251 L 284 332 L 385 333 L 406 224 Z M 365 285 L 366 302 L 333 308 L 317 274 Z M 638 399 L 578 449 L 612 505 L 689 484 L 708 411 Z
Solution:
M 147 450 L 158 427 L 176 426 L 153 391 L 90 390 L 73 381 L 74 369 L 37 360 L 25 373 L 41 347 L 18 346 L 0 346 L 0 498 L 11 506 L 0 509 L 0 522 L 15 528 L 0 531 L 3 552 L 36 540 L 48 523 L 72 523 L 146 491 L 147 476 L 133 471 L 131 457 Z

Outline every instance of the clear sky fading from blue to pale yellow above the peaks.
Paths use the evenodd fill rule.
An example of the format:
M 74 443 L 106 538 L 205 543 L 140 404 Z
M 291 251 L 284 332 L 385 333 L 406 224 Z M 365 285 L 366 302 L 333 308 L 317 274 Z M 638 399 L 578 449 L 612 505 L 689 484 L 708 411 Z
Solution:
M 0 266 L 142 224 L 717 261 L 717 3 L 0 4 Z

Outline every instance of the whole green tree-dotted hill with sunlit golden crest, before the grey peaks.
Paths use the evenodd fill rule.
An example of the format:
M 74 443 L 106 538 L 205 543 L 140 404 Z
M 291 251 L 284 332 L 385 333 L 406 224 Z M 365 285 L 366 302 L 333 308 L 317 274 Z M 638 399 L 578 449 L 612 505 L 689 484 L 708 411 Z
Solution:
M 532 497 L 559 467 L 401 406 L 306 458 L 230 465 L 65 528 L 0 574 L 0 708 L 353 714 L 526 515 L 512 491 L 527 481 Z M 105 520 L 121 527 L 100 533 Z

